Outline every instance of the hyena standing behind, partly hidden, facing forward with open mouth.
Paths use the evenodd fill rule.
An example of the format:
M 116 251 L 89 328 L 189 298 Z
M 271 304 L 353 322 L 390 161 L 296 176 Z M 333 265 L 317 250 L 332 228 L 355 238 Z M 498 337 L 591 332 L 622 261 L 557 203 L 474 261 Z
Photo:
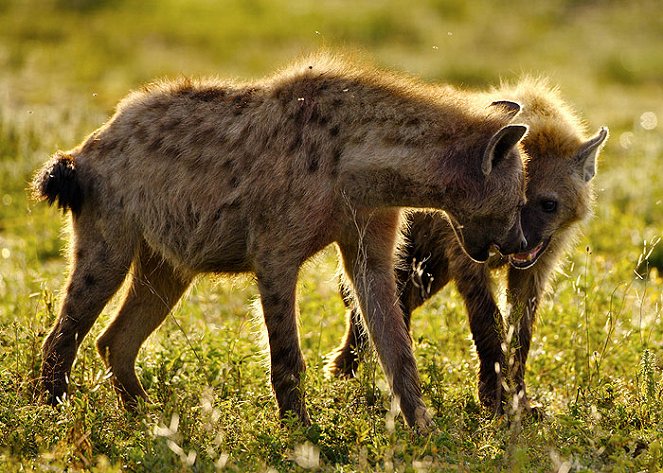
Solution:
M 580 222 L 590 213 L 596 158 L 608 136 L 607 128 L 601 128 L 588 139 L 576 114 L 544 81 L 527 79 L 515 86 L 476 94 L 475 99 L 490 103 L 505 97 L 523 104 L 520 119 L 530 127 L 523 139 L 529 161 L 527 203 L 521 213 L 527 248 L 508 258 L 496 255 L 488 264 L 477 264 L 460 250 L 443 215 L 413 211 L 405 218 L 396 265 L 398 294 L 408 328 L 414 309 L 449 281 L 456 283 L 467 307 L 479 355 L 479 398 L 496 411 L 502 409 L 506 394 L 501 383 L 505 356 L 501 344 L 509 328 L 503 327 L 504 320 L 492 293 L 491 269 L 510 263 L 499 274 L 506 278 L 511 307 L 506 323 L 515 329 L 511 389 L 522 393 L 521 405 L 528 408 L 524 371 L 535 313 L 551 273 L 573 241 Z M 347 292 L 344 301 L 348 307 L 353 306 Z M 366 344 L 356 309 L 349 310 L 348 320 L 344 342 L 328 366 L 333 374 L 344 377 L 354 376 L 361 348 Z

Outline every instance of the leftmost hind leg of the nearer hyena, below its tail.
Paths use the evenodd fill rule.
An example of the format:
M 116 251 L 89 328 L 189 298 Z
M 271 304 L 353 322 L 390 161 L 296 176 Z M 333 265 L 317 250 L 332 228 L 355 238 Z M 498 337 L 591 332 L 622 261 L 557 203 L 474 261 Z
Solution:
M 71 367 L 83 338 L 122 285 L 134 256 L 126 238 L 107 239 L 88 211 L 74 218 L 73 261 L 60 314 L 42 347 L 45 402 L 58 404 L 67 393 Z

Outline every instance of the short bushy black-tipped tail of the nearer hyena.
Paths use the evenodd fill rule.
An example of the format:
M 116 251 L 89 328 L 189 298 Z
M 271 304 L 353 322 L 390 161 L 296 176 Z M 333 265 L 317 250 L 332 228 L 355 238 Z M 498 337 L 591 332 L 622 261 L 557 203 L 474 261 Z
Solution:
M 76 161 L 70 154 L 57 152 L 39 171 L 32 181 L 32 192 L 36 199 L 55 202 L 63 212 L 71 210 L 74 215 L 83 205 L 83 188 L 78 180 Z

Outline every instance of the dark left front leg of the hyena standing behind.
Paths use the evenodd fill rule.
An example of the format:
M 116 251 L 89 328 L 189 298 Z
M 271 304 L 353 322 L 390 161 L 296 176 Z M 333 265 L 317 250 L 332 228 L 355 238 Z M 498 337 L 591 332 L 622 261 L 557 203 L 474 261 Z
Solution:
M 501 413 L 504 398 L 502 376 L 505 374 L 502 314 L 491 291 L 489 270 L 458 255 L 451 258 L 451 273 L 458 292 L 465 301 L 474 345 L 479 355 L 479 400 L 489 409 Z

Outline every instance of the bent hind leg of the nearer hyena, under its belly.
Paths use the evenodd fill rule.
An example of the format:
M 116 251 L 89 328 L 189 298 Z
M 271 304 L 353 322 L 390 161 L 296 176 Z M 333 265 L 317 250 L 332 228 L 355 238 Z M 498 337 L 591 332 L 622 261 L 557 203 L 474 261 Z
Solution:
M 113 384 L 128 409 L 147 394 L 136 377 L 136 356 L 161 325 L 191 278 L 177 273 L 145 243 L 136 258 L 131 286 L 115 319 L 97 339 L 97 350 L 113 374 Z

